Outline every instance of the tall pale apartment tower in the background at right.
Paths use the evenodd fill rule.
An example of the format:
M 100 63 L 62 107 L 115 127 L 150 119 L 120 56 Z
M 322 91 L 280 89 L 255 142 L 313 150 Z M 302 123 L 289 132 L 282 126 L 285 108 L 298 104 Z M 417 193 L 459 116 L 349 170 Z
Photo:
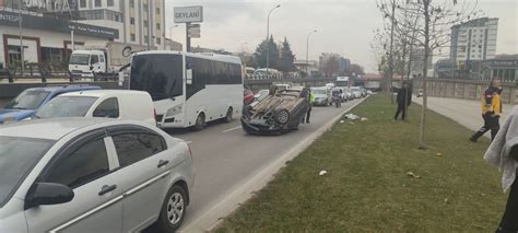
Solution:
M 462 67 L 469 60 L 495 57 L 497 18 L 481 18 L 451 27 L 450 59 Z

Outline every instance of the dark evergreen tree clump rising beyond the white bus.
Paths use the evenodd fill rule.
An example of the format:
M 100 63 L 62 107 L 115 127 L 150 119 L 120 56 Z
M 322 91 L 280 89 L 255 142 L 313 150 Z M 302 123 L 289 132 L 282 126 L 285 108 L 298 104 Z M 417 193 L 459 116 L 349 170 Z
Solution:
M 268 49 L 270 47 L 270 49 Z M 267 40 L 262 40 L 256 48 L 254 55 L 242 55 L 243 62 L 247 67 L 257 67 L 264 68 L 267 67 L 267 53 L 269 50 L 269 63 L 270 68 L 276 69 L 283 72 L 295 71 L 295 55 L 292 51 L 292 47 L 287 38 L 284 37 L 284 40 L 281 43 L 275 43 L 273 36 Z

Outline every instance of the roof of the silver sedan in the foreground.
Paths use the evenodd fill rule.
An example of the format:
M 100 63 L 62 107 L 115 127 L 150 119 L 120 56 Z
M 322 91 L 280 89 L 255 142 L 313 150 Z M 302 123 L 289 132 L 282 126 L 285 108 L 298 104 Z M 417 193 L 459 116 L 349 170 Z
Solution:
M 89 126 L 116 121 L 110 118 L 73 117 L 24 120 L 0 127 L 0 136 L 59 140 Z

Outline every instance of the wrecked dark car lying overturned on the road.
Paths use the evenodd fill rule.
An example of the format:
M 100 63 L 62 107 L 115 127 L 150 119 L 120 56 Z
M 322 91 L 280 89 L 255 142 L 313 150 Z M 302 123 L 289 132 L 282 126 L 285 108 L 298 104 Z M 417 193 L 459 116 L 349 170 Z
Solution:
M 270 94 L 243 108 L 243 129 L 250 135 L 280 135 L 297 129 L 309 109 L 308 90 L 270 90 Z

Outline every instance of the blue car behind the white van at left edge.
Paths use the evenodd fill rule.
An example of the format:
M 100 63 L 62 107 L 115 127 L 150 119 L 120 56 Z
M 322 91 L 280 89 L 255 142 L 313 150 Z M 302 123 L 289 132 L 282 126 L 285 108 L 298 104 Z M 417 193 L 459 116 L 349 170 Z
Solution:
M 0 109 L 0 124 L 19 121 L 31 117 L 39 107 L 54 97 L 86 90 L 99 90 L 96 85 L 63 85 L 26 89 Z

